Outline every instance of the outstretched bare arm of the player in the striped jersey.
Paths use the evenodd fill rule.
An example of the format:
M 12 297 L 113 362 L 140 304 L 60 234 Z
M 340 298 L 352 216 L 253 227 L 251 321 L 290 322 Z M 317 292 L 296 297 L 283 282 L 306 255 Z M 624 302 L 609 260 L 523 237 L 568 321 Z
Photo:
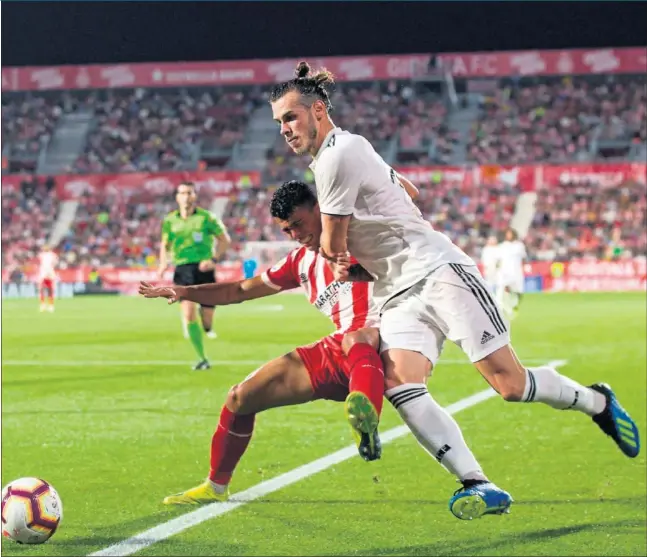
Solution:
M 171 304 L 188 300 L 197 304 L 227 306 L 264 298 L 277 292 L 278 290 L 265 284 L 261 277 L 196 286 L 156 287 L 147 282 L 141 282 L 139 285 L 139 294 L 144 298 L 166 298 Z

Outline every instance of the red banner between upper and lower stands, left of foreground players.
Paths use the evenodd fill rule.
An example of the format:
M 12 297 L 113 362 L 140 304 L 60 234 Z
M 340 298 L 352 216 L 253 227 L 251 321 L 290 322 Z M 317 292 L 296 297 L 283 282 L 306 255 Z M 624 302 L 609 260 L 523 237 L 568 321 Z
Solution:
M 20 188 L 24 179 L 20 174 L 2 177 L 2 190 Z M 41 179 L 44 179 L 41 177 Z M 186 171 L 186 172 L 131 172 L 125 174 L 70 174 L 55 176 L 56 191 L 60 199 L 76 199 L 85 192 L 137 195 L 139 200 L 153 198 L 175 188 L 182 181 L 192 181 L 200 192 L 214 197 L 228 195 L 236 188 L 259 186 L 261 175 L 258 171 L 238 172 L 232 170 Z

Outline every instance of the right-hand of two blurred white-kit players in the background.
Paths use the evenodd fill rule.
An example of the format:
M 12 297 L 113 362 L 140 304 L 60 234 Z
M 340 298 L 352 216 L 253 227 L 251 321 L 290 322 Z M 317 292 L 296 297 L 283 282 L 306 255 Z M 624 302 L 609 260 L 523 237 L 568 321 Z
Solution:
M 528 257 L 526 246 L 519 240 L 517 231 L 508 228 L 505 241 L 498 248 L 497 301 L 508 314 L 514 317 L 519 309 L 526 280 L 523 265 Z

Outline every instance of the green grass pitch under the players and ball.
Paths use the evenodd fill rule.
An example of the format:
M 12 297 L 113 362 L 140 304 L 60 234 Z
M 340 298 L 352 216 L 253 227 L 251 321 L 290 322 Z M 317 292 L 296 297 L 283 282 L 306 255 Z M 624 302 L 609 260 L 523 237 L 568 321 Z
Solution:
M 528 365 L 567 360 L 584 384 L 611 384 L 646 427 L 645 295 L 528 295 L 512 324 Z M 280 309 L 283 306 L 283 309 Z M 193 508 L 167 494 L 208 471 L 212 431 L 230 385 L 331 326 L 301 296 L 219 308 L 208 372 L 193 372 L 179 310 L 159 300 L 34 300 L 2 304 L 2 484 L 51 482 L 64 520 L 42 546 L 2 540 L 6 555 L 87 555 Z M 429 381 L 442 404 L 486 385 L 448 345 Z M 137 555 L 645 555 L 645 449 L 623 456 L 591 420 L 539 404 L 490 399 L 456 415 L 512 513 L 456 520 L 458 487 L 411 435 L 252 501 Z M 351 443 L 342 405 L 259 415 L 232 493 Z M 386 404 L 381 430 L 400 425 Z

